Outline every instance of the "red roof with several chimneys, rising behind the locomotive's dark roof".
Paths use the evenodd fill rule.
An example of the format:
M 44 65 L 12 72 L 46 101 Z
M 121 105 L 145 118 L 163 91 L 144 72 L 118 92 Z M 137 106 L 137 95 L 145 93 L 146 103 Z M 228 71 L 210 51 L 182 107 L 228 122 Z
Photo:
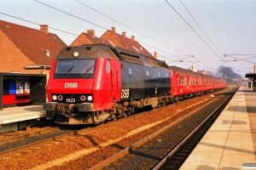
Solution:
M 119 43 L 115 43 L 113 41 L 113 38 L 106 35 L 112 35 Z M 102 37 L 102 39 L 107 39 L 109 42 L 114 44 L 115 46 L 118 46 L 120 48 L 126 48 L 131 51 L 134 51 L 138 54 L 146 55 L 150 58 L 154 58 L 152 54 L 148 53 L 148 50 L 146 48 L 143 48 L 143 46 L 135 40 L 134 36 L 131 36 L 131 38 L 126 37 L 126 33 L 122 32 L 122 35 L 115 32 L 115 28 L 112 27 L 111 31 L 106 31 Z M 120 45 L 121 44 L 121 45 Z

